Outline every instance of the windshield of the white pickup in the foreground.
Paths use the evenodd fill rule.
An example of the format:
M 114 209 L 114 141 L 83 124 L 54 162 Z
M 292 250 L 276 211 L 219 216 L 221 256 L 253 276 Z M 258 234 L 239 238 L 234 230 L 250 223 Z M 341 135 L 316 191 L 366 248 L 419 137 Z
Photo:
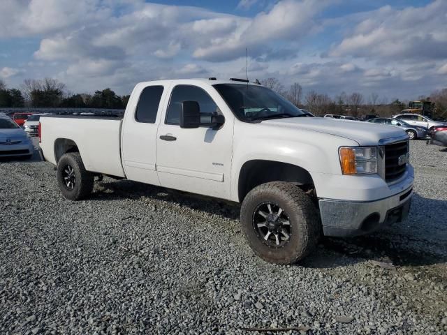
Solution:
M 241 121 L 309 115 L 267 87 L 244 84 L 215 84 L 213 87 Z

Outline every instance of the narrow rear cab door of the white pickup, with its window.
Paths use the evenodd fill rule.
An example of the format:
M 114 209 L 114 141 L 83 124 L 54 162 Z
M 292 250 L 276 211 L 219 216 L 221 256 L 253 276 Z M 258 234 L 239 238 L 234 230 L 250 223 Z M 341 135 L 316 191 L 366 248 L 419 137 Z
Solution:
M 168 87 L 151 82 L 135 87 L 122 126 L 122 164 L 127 179 L 159 185 L 156 132 Z

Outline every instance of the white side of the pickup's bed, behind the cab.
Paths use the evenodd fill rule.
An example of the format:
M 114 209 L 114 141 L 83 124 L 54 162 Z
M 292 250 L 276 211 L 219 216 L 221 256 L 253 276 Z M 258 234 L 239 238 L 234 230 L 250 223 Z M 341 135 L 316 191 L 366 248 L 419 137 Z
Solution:
M 45 160 L 57 164 L 57 147 L 78 147 L 91 172 L 125 177 L 121 163 L 120 117 L 101 115 L 49 115 L 41 117 L 41 149 Z

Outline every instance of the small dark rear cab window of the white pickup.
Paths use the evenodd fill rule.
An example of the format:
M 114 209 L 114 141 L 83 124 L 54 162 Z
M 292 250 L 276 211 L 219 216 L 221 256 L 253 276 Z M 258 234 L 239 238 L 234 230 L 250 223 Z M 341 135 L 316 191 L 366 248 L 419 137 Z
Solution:
M 145 124 L 154 124 L 159 110 L 163 86 L 148 86 L 142 90 L 138 100 L 135 120 Z

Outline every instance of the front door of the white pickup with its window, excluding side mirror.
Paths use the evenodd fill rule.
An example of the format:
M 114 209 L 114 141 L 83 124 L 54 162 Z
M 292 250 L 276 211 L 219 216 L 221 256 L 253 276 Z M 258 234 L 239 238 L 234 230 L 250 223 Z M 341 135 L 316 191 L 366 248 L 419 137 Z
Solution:
M 209 126 L 180 128 L 182 101 L 197 101 L 200 112 L 223 114 L 225 123 L 219 130 Z M 177 84 L 172 88 L 156 138 L 161 186 L 230 199 L 234 116 L 228 111 L 217 91 L 206 86 Z

